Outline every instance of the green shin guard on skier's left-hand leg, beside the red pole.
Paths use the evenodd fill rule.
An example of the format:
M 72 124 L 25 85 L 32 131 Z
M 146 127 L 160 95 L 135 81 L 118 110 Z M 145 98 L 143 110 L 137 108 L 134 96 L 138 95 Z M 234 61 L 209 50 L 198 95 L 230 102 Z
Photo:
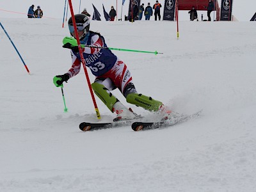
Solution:
M 103 84 L 92 83 L 92 89 L 99 99 L 102 100 L 102 102 L 104 102 L 104 104 L 109 108 L 109 110 L 113 112 L 113 106 L 118 99 L 116 99 L 116 97 L 112 95 L 112 93 L 109 92 Z

